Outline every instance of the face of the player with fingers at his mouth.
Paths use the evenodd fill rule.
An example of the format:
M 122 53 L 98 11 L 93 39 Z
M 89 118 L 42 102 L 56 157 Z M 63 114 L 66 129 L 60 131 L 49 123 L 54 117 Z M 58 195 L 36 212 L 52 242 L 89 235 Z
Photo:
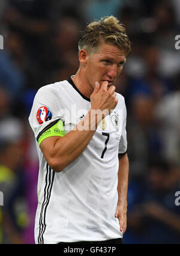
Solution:
M 102 43 L 98 52 L 88 56 L 86 62 L 86 78 L 94 89 L 95 82 L 109 82 L 109 87 L 122 72 L 126 61 L 124 50 L 113 44 Z

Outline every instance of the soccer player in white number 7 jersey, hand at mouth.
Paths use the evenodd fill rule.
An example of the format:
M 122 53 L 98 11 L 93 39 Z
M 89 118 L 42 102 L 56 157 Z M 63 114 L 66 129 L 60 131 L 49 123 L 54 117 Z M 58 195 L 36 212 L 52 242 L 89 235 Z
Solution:
M 113 16 L 90 23 L 70 79 L 38 90 L 29 123 L 40 170 L 35 243 L 121 243 L 127 225 L 124 97 L 115 79 L 130 53 Z

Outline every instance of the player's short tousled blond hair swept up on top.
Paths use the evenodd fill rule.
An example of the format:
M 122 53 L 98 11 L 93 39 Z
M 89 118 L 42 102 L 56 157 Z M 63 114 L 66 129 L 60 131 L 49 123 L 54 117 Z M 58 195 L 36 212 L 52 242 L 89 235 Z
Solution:
M 125 32 L 125 27 L 114 16 L 105 16 L 86 26 L 79 40 L 78 48 L 94 53 L 98 50 L 101 41 L 120 47 L 125 51 L 125 56 L 130 54 L 131 43 Z

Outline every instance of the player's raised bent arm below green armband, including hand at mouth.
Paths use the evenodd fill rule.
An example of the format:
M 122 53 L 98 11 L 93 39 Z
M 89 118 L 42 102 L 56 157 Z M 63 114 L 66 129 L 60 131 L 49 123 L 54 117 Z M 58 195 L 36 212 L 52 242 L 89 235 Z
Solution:
M 41 142 L 41 151 L 54 171 L 62 171 L 82 154 L 102 118 L 117 105 L 118 99 L 114 94 L 115 87 L 112 86 L 107 90 L 107 85 L 108 83 L 104 82 L 101 87 L 100 84 L 95 87 L 91 94 L 91 110 L 73 130 L 63 137 L 53 136 Z M 98 109 L 101 111 L 107 109 L 108 111 L 102 115 L 101 111 L 96 112 Z

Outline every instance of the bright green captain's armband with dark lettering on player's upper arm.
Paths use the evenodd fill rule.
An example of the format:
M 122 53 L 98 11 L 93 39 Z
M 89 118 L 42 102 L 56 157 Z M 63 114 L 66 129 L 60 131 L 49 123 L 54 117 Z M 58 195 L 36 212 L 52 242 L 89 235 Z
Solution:
M 41 134 L 41 136 L 38 138 L 38 144 L 40 145 L 44 139 L 52 137 L 52 136 L 60 136 L 63 137 L 65 135 L 64 131 L 64 124 L 62 120 L 59 120 L 56 124 L 54 124 L 52 127 L 47 129 L 45 132 Z

